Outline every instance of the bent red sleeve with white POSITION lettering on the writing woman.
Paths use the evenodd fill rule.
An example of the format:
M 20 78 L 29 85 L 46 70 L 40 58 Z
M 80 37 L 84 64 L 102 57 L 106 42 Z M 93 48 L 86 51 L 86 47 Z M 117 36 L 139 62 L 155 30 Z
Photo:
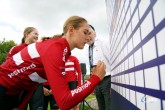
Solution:
M 65 48 L 62 48 L 61 45 L 51 46 L 48 48 L 48 51 L 45 52 L 44 57 L 42 57 L 49 85 L 57 105 L 62 110 L 68 110 L 77 105 L 87 97 L 100 82 L 99 77 L 93 76 L 86 83 L 71 91 L 63 75 L 67 56 L 65 51 Z

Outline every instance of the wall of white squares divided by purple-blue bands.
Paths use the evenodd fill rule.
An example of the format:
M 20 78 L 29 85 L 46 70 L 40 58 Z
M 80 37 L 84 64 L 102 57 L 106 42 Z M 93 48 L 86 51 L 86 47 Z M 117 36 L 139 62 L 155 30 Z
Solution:
M 141 110 L 165 110 L 165 0 L 106 0 L 112 89 Z

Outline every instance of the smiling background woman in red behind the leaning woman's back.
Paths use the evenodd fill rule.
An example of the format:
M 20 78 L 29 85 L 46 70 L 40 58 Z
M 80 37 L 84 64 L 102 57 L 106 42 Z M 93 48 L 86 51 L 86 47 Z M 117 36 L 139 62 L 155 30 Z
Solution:
M 26 27 L 23 32 L 23 38 L 22 38 L 21 44 L 14 46 L 10 49 L 10 51 L 7 54 L 7 59 L 9 59 L 13 55 L 21 51 L 23 48 L 25 48 L 29 44 L 36 42 L 38 40 L 38 36 L 39 36 L 39 32 L 35 27 Z M 38 88 L 35 90 L 32 97 L 30 98 L 30 101 L 29 101 L 30 110 L 42 110 L 43 108 L 42 94 L 43 94 L 42 84 L 39 84 Z M 21 96 L 18 94 L 17 96 L 14 96 L 14 97 L 17 99 L 17 101 L 14 101 L 14 103 L 11 102 L 9 105 L 18 107 L 19 97 Z

